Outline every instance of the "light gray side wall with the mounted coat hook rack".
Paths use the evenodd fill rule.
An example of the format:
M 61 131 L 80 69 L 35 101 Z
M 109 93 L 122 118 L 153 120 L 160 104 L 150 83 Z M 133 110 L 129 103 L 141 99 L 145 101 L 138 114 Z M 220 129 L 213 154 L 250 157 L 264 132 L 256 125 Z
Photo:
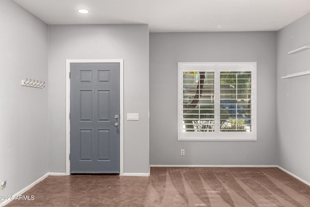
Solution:
M 47 82 L 47 25 L 0 0 L 0 31 L 0 195 L 13 195 L 48 172 L 48 84 L 21 86 L 26 78 Z

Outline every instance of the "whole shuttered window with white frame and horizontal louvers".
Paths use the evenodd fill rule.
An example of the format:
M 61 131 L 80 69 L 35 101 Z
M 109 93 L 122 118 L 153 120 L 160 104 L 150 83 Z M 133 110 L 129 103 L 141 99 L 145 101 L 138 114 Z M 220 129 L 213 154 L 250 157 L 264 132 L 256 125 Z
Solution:
M 178 140 L 256 140 L 256 63 L 179 63 Z

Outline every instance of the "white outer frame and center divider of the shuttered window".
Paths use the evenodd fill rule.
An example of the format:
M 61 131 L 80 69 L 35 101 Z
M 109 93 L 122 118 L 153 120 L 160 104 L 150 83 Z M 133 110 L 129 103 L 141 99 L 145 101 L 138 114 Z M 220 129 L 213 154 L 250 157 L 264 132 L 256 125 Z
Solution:
M 215 120 L 214 132 L 183 131 L 183 71 L 214 71 L 215 81 Z M 219 131 L 219 73 L 220 71 L 251 71 L 251 131 L 220 132 Z M 178 140 L 179 141 L 256 141 L 256 62 L 233 63 L 178 63 Z

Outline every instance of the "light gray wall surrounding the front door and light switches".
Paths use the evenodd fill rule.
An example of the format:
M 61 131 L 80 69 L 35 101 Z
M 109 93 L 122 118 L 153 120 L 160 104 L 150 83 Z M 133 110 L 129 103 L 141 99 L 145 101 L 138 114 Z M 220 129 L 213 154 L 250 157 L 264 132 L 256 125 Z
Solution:
M 124 121 L 124 173 L 148 173 L 148 26 L 52 25 L 48 57 L 50 171 L 65 172 L 66 59 L 124 59 L 124 113 L 140 113 Z

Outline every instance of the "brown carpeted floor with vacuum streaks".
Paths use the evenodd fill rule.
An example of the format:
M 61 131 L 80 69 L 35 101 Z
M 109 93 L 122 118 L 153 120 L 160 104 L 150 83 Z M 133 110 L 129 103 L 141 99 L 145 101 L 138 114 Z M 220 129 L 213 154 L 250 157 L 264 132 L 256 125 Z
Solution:
M 150 177 L 48 176 L 24 195 L 29 200 L 7 206 L 310 207 L 310 186 L 278 168 L 152 167 Z

